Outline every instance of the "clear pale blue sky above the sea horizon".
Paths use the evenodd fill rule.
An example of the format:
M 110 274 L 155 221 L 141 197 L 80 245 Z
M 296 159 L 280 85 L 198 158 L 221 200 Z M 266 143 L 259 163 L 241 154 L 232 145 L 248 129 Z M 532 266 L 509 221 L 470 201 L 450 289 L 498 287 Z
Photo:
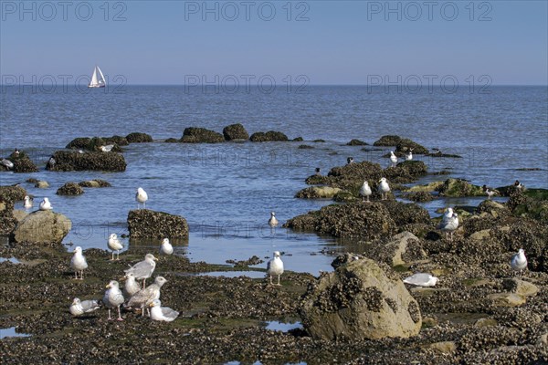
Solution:
M 68 1 L 63 8 L 51 1 L 21 8 L 2 0 L 0 73 L 78 78 L 99 64 L 128 84 L 246 75 L 277 82 L 305 75 L 310 84 L 367 84 L 376 76 L 427 82 L 428 75 L 548 83 L 548 2 L 425 4 Z

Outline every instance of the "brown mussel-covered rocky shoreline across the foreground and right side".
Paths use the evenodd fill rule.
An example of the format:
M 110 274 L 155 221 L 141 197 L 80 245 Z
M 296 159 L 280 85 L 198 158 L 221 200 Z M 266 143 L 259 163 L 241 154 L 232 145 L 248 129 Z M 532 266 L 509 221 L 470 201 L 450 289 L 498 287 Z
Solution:
M 222 135 L 203 129 L 186 130 L 181 141 L 248 138 L 241 125 L 229 127 Z M 269 133 L 251 140 L 266 141 L 265 136 L 269 136 L 272 141 L 288 141 L 285 135 Z M 115 137 L 104 140 L 117 145 L 152 141 L 139 133 Z M 116 160 L 112 163 L 118 166 L 116 171 L 125 169 L 121 154 L 96 151 L 96 141 L 73 142 L 72 148 L 90 151 L 58 152 L 59 164 L 53 170 L 78 167 L 81 155 L 101 160 L 108 156 Z M 415 142 L 397 136 L 385 136 L 377 142 L 374 145 L 396 145 L 396 152 L 402 155 L 409 148 L 415 153 L 428 153 Z M 353 144 L 362 145 L 356 141 Z M 70 167 L 61 165 L 65 154 Z M 97 168 L 101 169 L 99 163 Z M 312 175 L 306 180 L 314 186 L 298 193 L 298 197 L 345 203 L 301 214 L 290 219 L 287 226 L 359 241 L 359 252 L 340 255 L 333 261 L 334 273 L 314 277 L 286 271 L 281 276 L 281 287 L 275 287 L 269 285 L 264 268 L 249 267 L 246 262 L 216 266 L 191 263 L 179 255 L 160 256 L 154 276 L 167 279 L 162 303 L 181 312 L 169 323 L 154 322 L 132 311 L 122 311 L 122 322 L 109 321 L 104 309 L 79 318 L 68 312 L 74 297 L 102 297 L 105 285 L 120 279 L 124 269 L 141 261 L 148 252 L 145 248 L 130 247 L 120 255 L 120 261 L 109 261 L 111 254 L 105 250 L 85 250 L 90 267 L 80 281 L 72 279 L 71 253 L 60 239 L 29 242 L 18 238 L 16 243 L 0 247 L 0 257 L 7 258 L 0 260 L 0 328 L 16 328 L 17 333 L 28 336 L 0 340 L 3 363 L 547 363 L 548 194 L 537 189 L 498 188 L 510 197 L 508 203 L 485 200 L 471 209 L 455 207 L 460 224 L 454 237 L 448 238 L 437 229 L 439 218 L 430 218 L 418 204 L 396 202 L 394 196 L 382 201 L 376 193 L 378 179 L 387 177 L 393 190 L 415 194 L 420 201 L 483 194 L 479 186 L 458 179 L 411 188 L 400 185 L 413 183 L 426 173 L 423 162 L 403 162 L 387 169 L 372 162 L 353 162 L 334 167 L 326 176 Z M 374 188 L 373 203 L 361 201 L 358 190 L 364 180 L 370 180 Z M 108 183 L 71 183 L 61 193 L 80 192 L 80 186 Z M 12 234 L 19 226 L 13 214 L 14 202 L 25 194 L 18 186 L 2 187 L 0 228 L 4 235 Z M 46 213 L 52 214 L 42 215 Z M 154 213 L 132 211 L 128 224 L 155 220 L 150 214 Z M 167 228 L 179 228 L 169 233 L 158 230 L 159 236 L 188 235 L 183 217 L 163 215 Z M 153 235 L 151 232 L 142 235 Z M 132 235 L 138 236 L 134 230 Z M 520 248 L 529 260 L 522 275 L 510 266 L 511 255 Z M 252 257 L 249 263 L 259 260 Z M 206 275 L 235 270 L 264 272 L 265 278 Z M 404 286 L 401 280 L 417 272 L 431 273 L 439 282 L 435 287 Z M 399 294 L 374 289 L 376 275 L 382 276 L 385 283 L 379 287 L 394 284 Z M 348 316 L 366 311 L 384 313 L 387 308 L 398 315 L 406 314 L 402 320 L 413 329 L 403 336 L 398 326 L 386 330 L 388 335 L 381 335 L 379 328 L 369 328 L 371 331 L 362 337 L 358 331 L 369 326 L 368 319 Z M 385 314 L 386 321 L 395 320 L 395 316 Z M 270 321 L 301 322 L 302 326 L 289 331 L 272 330 L 267 328 Z

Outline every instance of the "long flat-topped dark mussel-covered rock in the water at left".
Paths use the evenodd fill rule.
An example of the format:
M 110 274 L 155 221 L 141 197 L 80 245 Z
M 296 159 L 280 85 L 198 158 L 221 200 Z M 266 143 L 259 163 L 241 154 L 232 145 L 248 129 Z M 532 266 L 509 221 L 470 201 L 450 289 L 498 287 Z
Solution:
M 116 152 L 57 151 L 53 157 L 56 163 L 48 165 L 47 170 L 122 172 L 127 166 L 123 156 Z

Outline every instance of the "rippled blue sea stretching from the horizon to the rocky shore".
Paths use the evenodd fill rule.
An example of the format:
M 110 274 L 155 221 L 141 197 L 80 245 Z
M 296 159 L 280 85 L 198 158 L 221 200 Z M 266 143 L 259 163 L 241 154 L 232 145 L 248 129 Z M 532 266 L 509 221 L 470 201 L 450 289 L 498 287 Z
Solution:
M 428 148 L 459 154 L 462 159 L 416 156 L 431 172 L 450 169 L 451 176 L 475 184 L 501 186 L 519 179 L 528 187 L 548 188 L 548 89 L 546 87 L 490 87 L 486 94 L 461 88 L 418 93 L 367 87 L 312 87 L 303 93 L 278 88 L 264 93 L 242 89 L 228 93 L 214 89 L 174 86 L 46 89 L 3 88 L 0 110 L 0 154 L 24 150 L 40 167 L 30 174 L 0 173 L 2 185 L 23 183 L 29 177 L 46 180 L 40 190 L 23 183 L 36 196 L 48 196 L 56 212 L 73 223 L 64 243 L 84 249 L 106 248 L 110 233 L 127 233 L 128 211 L 136 208 L 135 189 L 149 193 L 147 208 L 183 215 L 190 224 L 188 241 L 177 253 L 192 261 L 224 264 L 285 252 L 288 269 L 317 274 L 331 270 L 333 251 L 352 245 L 317 235 L 270 230 L 269 212 L 281 223 L 331 203 L 293 196 L 306 187 L 304 179 L 321 167 L 327 173 L 346 157 L 388 165 L 382 151 L 345 146 L 353 138 L 373 143 L 385 134 L 410 138 Z M 183 144 L 186 127 L 221 132 L 242 123 L 249 134 L 280 130 L 305 142 Z M 125 136 L 149 133 L 153 143 L 124 147 L 126 172 L 46 172 L 47 157 L 76 137 Z M 323 139 L 324 143 L 312 143 Z M 310 144 L 314 149 L 298 149 Z M 540 169 L 520 171 L 518 169 Z M 86 189 L 77 197 L 58 196 L 67 182 L 104 179 L 111 188 Z M 436 180 L 428 176 L 418 183 Z M 477 204 L 481 199 L 438 200 L 434 210 L 448 203 Z M 19 203 L 18 207 L 21 207 Z M 127 242 L 126 242 L 127 244 Z M 151 251 L 159 242 L 150 242 Z M 349 248 L 350 247 L 350 248 Z M 71 250 L 71 248 L 68 248 Z M 153 251 L 155 252 L 155 251 Z M 264 266 L 261 265 L 261 266 Z

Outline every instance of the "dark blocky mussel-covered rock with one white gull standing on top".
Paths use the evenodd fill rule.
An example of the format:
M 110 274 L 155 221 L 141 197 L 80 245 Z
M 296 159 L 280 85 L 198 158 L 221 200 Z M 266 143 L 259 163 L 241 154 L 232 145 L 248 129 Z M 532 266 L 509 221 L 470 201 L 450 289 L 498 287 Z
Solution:
M 131 238 L 185 238 L 188 224 L 184 217 L 150 209 L 132 210 L 128 214 Z

